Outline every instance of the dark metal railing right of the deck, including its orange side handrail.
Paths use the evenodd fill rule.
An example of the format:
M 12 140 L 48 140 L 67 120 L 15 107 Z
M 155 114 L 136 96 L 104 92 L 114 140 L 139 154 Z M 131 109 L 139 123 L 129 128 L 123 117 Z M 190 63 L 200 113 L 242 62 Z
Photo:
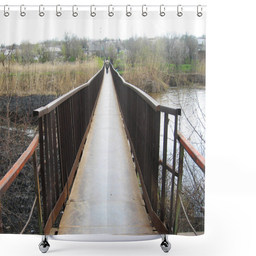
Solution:
M 110 65 L 119 108 L 124 122 L 125 131 L 129 140 L 132 155 L 139 174 L 143 197 L 152 224 L 160 234 L 177 234 L 178 216 L 180 201 L 178 193 L 181 191 L 181 181 L 183 172 L 182 149 L 185 148 L 192 159 L 202 166 L 204 158 L 185 140 L 184 136 L 177 130 L 178 116 L 181 115 L 180 108 L 171 108 L 160 105 L 148 94 L 138 89 L 136 86 L 126 83 L 118 72 Z M 163 140 L 163 159 L 159 157 L 160 140 L 160 114 L 164 113 L 164 140 Z M 167 164 L 167 134 L 169 115 L 174 117 L 174 143 L 172 166 Z M 180 142 L 179 168 L 176 171 L 176 148 L 177 140 Z M 183 150 L 184 151 L 184 150 Z M 161 197 L 158 199 L 158 172 L 159 164 L 162 165 L 162 188 Z M 170 198 L 170 217 L 165 219 L 166 201 L 166 172 L 172 173 L 171 198 Z M 177 177 L 178 187 L 174 209 L 174 187 L 175 177 Z M 157 215 L 157 204 L 160 200 L 160 216 Z

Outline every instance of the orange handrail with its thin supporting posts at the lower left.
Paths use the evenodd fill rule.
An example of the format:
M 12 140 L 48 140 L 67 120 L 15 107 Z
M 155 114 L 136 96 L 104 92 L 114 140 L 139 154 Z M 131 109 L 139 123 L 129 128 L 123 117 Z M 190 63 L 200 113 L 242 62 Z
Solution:
M 15 178 L 19 175 L 20 171 L 22 170 L 24 165 L 28 162 L 29 158 L 32 156 L 34 177 L 35 177 L 36 204 L 37 204 L 37 216 L 39 221 L 39 232 L 40 234 L 43 234 L 40 189 L 39 189 L 39 178 L 38 178 L 38 175 L 40 172 L 40 166 L 37 166 L 37 160 L 36 160 L 36 148 L 38 146 L 38 143 L 39 143 L 39 135 L 37 134 L 35 138 L 32 140 L 32 142 L 30 143 L 30 145 L 28 146 L 27 150 L 23 152 L 23 154 L 20 156 L 17 162 L 13 164 L 12 168 L 4 175 L 2 180 L 0 180 L 0 199 L 4 195 L 5 191 L 11 186 Z M 0 200 L 0 233 L 3 233 L 1 200 Z

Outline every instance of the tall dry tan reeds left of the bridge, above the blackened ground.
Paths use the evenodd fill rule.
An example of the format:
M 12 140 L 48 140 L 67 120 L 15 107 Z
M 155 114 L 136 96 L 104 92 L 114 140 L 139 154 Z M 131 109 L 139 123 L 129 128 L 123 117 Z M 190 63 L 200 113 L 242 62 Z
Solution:
M 100 68 L 97 58 L 27 65 L 12 61 L 10 68 L 0 67 L 0 95 L 62 95 L 86 83 Z

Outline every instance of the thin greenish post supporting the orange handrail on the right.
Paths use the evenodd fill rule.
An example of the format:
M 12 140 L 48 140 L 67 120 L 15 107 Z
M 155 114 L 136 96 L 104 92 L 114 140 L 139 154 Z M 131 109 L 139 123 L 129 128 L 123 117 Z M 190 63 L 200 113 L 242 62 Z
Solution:
M 174 215 L 174 225 L 173 232 L 177 235 L 178 232 L 178 220 L 179 220 L 179 212 L 180 212 L 180 197 L 179 194 L 181 192 L 181 183 L 182 183 L 182 173 L 183 173 L 183 158 L 184 158 L 184 148 L 180 145 L 180 153 L 179 153 L 179 170 L 178 170 L 178 181 L 177 181 L 177 192 L 176 192 L 176 205 L 175 205 L 175 215 Z

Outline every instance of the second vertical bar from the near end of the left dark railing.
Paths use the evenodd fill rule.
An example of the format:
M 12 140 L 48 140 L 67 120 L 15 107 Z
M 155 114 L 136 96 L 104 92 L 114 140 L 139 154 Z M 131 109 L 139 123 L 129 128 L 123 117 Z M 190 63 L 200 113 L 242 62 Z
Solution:
M 44 115 L 44 149 L 45 149 L 45 166 L 46 166 L 46 200 L 48 216 L 51 212 L 51 180 L 50 180 L 50 167 L 49 167 L 49 150 L 48 150 L 48 114 Z

